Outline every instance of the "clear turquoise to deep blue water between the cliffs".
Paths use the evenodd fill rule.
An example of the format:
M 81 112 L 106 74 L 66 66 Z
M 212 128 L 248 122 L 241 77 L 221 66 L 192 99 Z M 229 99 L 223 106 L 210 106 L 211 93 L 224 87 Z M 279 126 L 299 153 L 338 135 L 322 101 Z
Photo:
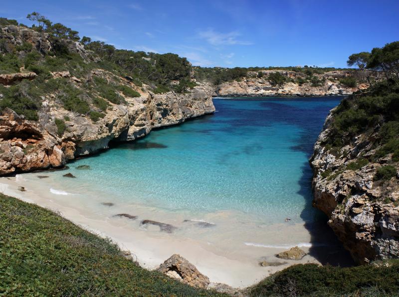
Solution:
M 168 212 L 314 221 L 308 158 L 341 98 L 216 98 L 213 115 L 76 160 L 69 171 L 78 179 L 63 183 Z M 76 169 L 83 164 L 91 169 Z

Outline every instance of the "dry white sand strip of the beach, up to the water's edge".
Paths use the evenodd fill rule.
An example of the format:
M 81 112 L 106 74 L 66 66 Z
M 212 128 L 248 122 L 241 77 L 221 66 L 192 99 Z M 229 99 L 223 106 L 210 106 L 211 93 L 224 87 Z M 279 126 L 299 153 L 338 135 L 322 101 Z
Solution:
M 18 191 L 17 188 L 21 185 L 27 191 Z M 68 203 L 59 203 L 59 201 L 51 199 L 51 194 L 44 193 L 43 190 L 40 190 L 42 188 L 32 189 L 34 189 L 33 184 L 23 180 L 23 177 L 18 178 L 18 175 L 16 177 L 0 178 L 0 191 L 4 194 L 55 211 L 87 231 L 101 237 L 110 238 L 122 250 L 131 251 L 137 257 L 138 263 L 149 270 L 156 269 L 166 259 L 177 253 L 194 264 L 202 274 L 210 279 L 210 282 L 223 283 L 235 288 L 245 288 L 291 265 L 319 263 L 310 255 L 305 256 L 302 260 L 281 260 L 274 257 L 275 254 L 287 250 L 291 246 L 298 245 L 301 241 L 270 247 L 270 245 L 262 244 L 262 242 L 258 243 L 259 238 L 255 237 L 256 240 L 253 240 L 253 242 L 243 243 L 242 248 L 223 251 L 220 247 L 213 247 L 212 243 L 209 242 L 200 242 L 200 240 L 187 238 L 179 234 L 170 236 L 153 228 L 133 228 L 130 222 L 126 223 L 123 219 L 99 217 L 91 210 L 71 207 Z M 58 198 L 56 196 L 69 197 L 64 196 L 64 194 L 52 195 L 55 198 Z M 287 229 L 284 232 L 281 231 L 282 228 Z M 284 224 L 275 224 L 270 226 L 270 229 L 270 236 L 278 237 L 284 234 L 291 240 L 298 233 L 307 232 L 301 224 L 295 224 L 290 227 Z M 306 234 L 302 235 L 305 236 Z M 308 240 L 310 240 L 310 236 Z M 309 252 L 312 247 L 306 241 L 302 245 L 302 249 L 305 252 Z M 258 263 L 264 260 L 288 262 L 288 264 L 279 267 L 260 267 Z

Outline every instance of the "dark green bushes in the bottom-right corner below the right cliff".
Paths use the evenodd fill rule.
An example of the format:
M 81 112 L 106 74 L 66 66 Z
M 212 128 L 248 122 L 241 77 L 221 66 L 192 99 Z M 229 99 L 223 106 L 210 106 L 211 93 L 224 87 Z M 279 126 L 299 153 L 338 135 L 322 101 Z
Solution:
M 298 264 L 248 290 L 249 296 L 397 296 L 399 261 L 339 268 Z

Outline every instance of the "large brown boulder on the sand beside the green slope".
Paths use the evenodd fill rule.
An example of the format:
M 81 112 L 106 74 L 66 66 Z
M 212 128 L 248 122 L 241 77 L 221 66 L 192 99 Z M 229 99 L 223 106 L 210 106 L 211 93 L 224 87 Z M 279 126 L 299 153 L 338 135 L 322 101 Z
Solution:
M 208 277 L 178 254 L 172 255 L 157 270 L 196 288 L 206 289 L 209 285 Z

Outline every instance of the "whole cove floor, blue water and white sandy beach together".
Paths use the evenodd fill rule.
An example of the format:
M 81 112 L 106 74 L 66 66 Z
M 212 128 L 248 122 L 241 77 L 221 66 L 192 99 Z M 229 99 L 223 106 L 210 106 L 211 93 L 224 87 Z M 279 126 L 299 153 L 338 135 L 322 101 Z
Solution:
M 214 98 L 213 115 L 75 160 L 67 170 L 3 177 L 1 191 L 112 238 L 146 268 L 180 253 L 211 282 L 245 287 L 288 265 L 346 259 L 311 206 L 308 164 L 341 98 Z M 259 267 L 297 245 L 309 252 L 301 261 Z

